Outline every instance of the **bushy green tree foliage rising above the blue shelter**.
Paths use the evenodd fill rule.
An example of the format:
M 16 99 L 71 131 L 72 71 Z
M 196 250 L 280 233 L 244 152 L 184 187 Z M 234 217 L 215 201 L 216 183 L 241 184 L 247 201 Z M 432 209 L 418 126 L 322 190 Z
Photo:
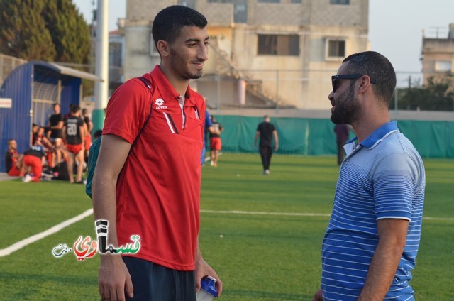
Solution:
M 71 0 L 0 0 L 0 52 L 26 60 L 86 64 L 89 26 Z

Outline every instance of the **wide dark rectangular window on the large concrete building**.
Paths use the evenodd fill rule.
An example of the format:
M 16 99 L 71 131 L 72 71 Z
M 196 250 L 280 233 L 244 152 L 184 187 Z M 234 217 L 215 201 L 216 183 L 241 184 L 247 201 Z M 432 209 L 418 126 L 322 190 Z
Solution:
M 257 54 L 299 56 L 299 35 L 258 35 Z

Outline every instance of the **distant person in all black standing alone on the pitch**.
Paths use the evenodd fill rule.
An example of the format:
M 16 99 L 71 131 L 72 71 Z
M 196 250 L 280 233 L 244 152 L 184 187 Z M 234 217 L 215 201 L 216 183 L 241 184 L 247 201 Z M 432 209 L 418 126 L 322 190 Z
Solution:
M 257 132 L 254 138 L 254 147 L 257 148 L 257 140 L 260 137 L 259 151 L 262 158 L 263 175 L 270 175 L 270 162 L 272 155 L 272 138 L 275 138 L 275 151 L 279 148 L 279 139 L 277 131 L 273 124 L 270 123 L 270 116 L 263 116 L 263 122 L 257 126 Z

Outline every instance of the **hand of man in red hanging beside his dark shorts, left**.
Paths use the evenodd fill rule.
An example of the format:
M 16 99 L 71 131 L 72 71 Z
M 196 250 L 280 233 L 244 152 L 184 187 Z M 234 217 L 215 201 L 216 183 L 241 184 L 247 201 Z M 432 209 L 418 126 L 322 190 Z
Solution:
M 133 282 L 128 268 L 121 256 L 102 255 L 99 265 L 98 284 L 99 295 L 105 301 L 124 301 L 125 290 L 128 297 L 133 297 Z

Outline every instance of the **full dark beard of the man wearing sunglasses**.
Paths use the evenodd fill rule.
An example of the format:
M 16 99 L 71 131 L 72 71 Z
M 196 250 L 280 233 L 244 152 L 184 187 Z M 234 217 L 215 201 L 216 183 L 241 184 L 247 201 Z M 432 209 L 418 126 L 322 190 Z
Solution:
M 331 121 L 333 124 L 352 124 L 358 119 L 360 114 L 360 104 L 355 98 L 354 85 L 350 85 L 348 90 L 344 91 L 335 99 Z

